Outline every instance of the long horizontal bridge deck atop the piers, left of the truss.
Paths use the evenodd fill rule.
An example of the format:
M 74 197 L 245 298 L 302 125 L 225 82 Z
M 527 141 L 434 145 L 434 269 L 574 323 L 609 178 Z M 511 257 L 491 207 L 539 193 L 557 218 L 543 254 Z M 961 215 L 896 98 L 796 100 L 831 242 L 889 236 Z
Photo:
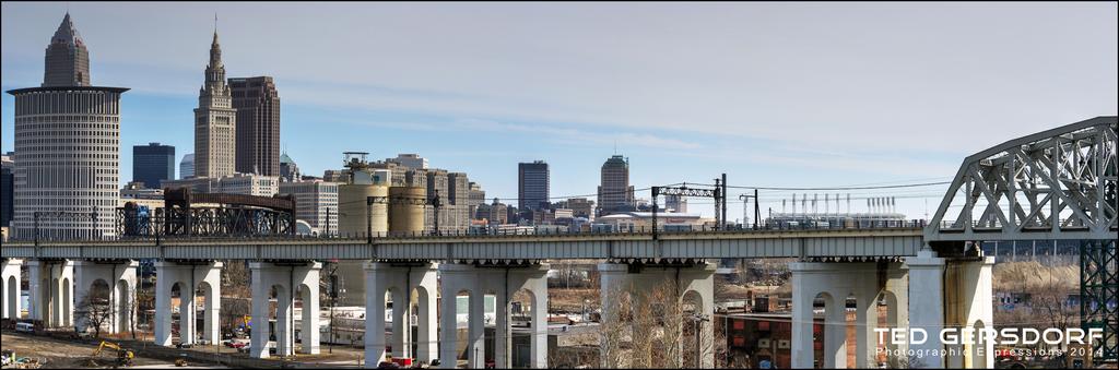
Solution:
M 4 258 L 630 259 L 914 256 L 921 228 L 374 238 L 170 238 L 7 243 Z

